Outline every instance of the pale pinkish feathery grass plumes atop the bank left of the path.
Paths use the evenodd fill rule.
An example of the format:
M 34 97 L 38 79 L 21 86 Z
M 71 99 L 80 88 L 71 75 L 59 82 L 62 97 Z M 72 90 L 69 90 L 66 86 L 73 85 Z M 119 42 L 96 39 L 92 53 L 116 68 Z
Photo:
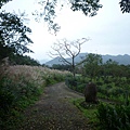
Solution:
M 40 87 L 46 86 L 46 79 L 48 78 L 53 78 L 54 76 L 65 77 L 70 73 L 50 69 L 42 66 L 16 65 L 9 66 L 4 74 L 8 79 L 11 79 L 15 83 L 23 83 L 24 86 L 26 82 L 31 82 L 34 86 Z

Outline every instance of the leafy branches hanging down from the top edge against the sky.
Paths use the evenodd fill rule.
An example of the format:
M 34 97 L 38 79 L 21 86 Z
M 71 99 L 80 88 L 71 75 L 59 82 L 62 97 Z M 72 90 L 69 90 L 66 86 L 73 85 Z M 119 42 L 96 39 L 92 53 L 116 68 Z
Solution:
M 41 10 L 36 11 L 34 15 L 38 17 L 42 17 L 44 22 L 48 22 L 49 29 L 53 29 L 54 31 L 60 30 L 60 26 L 54 22 L 57 15 L 58 4 L 61 8 L 64 8 L 66 4 L 70 6 L 73 11 L 81 11 L 84 15 L 94 16 L 98 14 L 99 9 L 103 5 L 100 3 L 100 0 L 39 0 L 38 2 L 41 4 Z M 120 0 L 119 5 L 122 13 L 130 13 L 130 0 Z M 37 18 L 38 20 L 38 18 Z

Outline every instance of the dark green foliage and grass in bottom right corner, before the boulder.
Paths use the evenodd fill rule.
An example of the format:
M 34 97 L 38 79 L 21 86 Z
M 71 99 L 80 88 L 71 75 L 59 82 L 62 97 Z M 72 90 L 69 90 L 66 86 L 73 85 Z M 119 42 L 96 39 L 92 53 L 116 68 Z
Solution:
M 98 130 L 129 130 L 130 106 L 112 105 L 107 103 L 88 104 L 83 99 L 75 99 L 72 102 L 89 119 L 88 123 Z

